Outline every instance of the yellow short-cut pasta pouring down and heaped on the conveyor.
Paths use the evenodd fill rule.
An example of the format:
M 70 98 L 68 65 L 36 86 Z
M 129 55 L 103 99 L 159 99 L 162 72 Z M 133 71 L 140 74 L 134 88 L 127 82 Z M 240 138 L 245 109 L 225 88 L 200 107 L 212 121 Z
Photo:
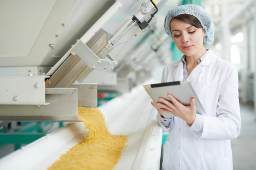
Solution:
M 104 116 L 97 108 L 78 107 L 83 122 L 85 141 L 76 144 L 61 155 L 48 170 L 112 170 L 127 146 L 127 135 L 108 132 Z

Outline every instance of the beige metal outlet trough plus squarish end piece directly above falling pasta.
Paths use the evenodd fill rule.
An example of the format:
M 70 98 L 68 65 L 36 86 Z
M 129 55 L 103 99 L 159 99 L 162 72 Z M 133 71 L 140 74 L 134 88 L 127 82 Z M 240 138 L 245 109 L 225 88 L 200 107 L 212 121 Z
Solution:
M 97 106 L 97 84 L 45 88 L 44 97 L 48 105 L 0 104 L 0 120 L 77 122 L 78 106 Z

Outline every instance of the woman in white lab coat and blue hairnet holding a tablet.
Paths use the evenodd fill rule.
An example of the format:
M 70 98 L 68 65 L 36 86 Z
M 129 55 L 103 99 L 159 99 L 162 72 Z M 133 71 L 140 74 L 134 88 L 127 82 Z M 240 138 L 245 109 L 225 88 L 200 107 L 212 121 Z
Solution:
M 184 54 L 163 69 L 162 82 L 190 81 L 206 115 L 189 106 L 159 98 L 157 119 L 169 132 L 163 149 L 163 170 L 232 170 L 230 139 L 240 133 L 237 68 L 204 45 L 213 43 L 213 23 L 198 5 L 171 9 L 165 31 Z M 154 105 L 154 102 L 152 102 Z M 156 106 L 155 106 L 156 107 Z M 163 117 L 161 111 L 176 115 Z

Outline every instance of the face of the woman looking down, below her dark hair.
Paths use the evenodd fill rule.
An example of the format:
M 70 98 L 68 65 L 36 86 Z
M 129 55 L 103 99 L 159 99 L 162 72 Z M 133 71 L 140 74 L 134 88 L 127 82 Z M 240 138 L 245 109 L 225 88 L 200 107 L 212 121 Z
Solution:
M 204 49 L 205 30 L 191 24 L 173 19 L 170 23 L 173 41 L 184 55 L 192 56 Z

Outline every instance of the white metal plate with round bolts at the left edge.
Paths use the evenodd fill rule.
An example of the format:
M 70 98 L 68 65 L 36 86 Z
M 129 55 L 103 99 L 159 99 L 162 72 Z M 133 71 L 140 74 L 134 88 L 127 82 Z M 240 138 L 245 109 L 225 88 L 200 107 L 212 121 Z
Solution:
M 49 76 L 0 76 L 0 105 L 46 105 L 45 78 Z

